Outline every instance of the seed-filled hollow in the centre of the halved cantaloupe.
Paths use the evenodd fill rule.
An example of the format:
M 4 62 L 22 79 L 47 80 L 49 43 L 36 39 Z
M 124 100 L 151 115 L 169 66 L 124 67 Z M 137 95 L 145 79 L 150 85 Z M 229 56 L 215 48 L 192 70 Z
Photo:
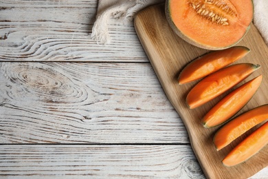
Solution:
M 227 14 L 231 16 L 236 15 L 236 11 L 223 1 L 188 0 L 188 3 L 201 17 L 219 25 L 229 25 Z M 215 12 L 215 9 L 218 13 Z

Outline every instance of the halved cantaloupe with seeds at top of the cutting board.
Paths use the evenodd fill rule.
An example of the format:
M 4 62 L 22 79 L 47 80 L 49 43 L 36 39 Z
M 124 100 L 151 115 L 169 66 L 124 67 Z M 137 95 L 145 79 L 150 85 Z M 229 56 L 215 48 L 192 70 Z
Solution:
M 252 23 L 252 0 L 167 0 L 172 30 L 199 48 L 223 50 L 238 43 Z

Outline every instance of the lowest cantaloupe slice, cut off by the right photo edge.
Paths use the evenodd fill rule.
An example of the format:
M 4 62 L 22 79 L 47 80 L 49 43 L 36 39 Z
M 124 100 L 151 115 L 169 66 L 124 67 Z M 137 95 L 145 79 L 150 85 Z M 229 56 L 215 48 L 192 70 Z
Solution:
M 251 135 L 239 143 L 223 159 L 223 165 L 231 167 L 245 162 L 268 144 L 268 122 L 256 129 Z

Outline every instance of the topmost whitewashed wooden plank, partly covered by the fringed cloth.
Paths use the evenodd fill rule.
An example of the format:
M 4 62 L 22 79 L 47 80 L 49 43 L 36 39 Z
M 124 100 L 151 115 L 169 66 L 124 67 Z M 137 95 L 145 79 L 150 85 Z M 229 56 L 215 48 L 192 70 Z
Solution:
M 98 44 L 91 39 L 97 3 L 1 2 L 0 61 L 148 62 L 133 21 L 109 20 L 110 44 Z

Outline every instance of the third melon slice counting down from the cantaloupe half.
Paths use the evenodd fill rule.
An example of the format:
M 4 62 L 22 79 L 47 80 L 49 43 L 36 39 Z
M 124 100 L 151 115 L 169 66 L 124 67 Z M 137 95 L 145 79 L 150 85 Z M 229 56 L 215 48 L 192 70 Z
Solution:
M 202 119 L 204 127 L 210 128 L 225 123 L 249 102 L 256 93 L 263 75 L 248 81 L 225 96 Z

